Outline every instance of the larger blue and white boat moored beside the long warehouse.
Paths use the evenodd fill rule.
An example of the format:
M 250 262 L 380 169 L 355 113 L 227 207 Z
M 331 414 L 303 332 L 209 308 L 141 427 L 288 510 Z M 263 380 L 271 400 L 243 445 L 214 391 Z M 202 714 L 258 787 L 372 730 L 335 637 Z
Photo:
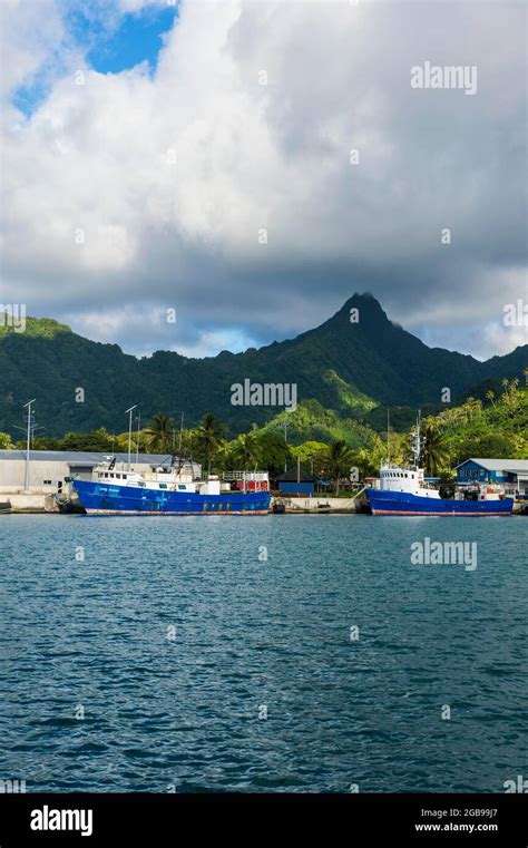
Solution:
M 140 475 L 109 462 L 95 468 L 91 480 L 72 479 L 71 485 L 88 515 L 267 515 L 267 474 L 238 476 L 203 481 L 174 468 Z

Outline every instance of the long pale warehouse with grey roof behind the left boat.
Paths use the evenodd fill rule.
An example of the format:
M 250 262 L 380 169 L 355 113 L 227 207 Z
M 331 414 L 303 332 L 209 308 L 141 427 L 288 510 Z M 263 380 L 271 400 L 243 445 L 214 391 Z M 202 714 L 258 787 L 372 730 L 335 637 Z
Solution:
M 117 466 L 128 462 L 127 454 L 116 454 Z M 70 450 L 31 450 L 29 455 L 29 489 L 38 494 L 52 494 L 62 489 L 67 477 L 89 480 L 95 466 L 109 459 L 108 454 L 76 452 Z M 168 466 L 170 456 L 133 454 L 130 468 L 139 474 Z M 176 459 L 176 464 L 178 460 Z M 25 450 L 0 450 L 0 493 L 19 493 L 25 488 L 27 458 Z M 182 470 L 199 477 L 202 469 L 196 462 L 182 460 Z

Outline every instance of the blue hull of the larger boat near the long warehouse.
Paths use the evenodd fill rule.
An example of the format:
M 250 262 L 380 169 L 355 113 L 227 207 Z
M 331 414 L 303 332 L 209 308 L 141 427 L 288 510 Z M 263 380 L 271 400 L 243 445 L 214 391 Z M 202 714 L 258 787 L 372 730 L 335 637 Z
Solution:
M 199 495 L 75 480 L 88 515 L 267 515 L 267 491 Z

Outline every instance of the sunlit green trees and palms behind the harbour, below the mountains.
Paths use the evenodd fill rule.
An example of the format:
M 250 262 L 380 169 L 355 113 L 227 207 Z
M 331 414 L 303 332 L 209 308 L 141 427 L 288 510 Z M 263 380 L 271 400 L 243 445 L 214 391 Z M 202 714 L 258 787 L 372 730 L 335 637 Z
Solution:
M 518 379 L 505 379 L 483 399 L 470 397 L 437 415 L 424 416 L 421 435 L 426 471 L 444 481 L 451 480 L 456 466 L 469 457 L 527 459 L 528 387 Z M 319 401 L 307 400 L 295 410 L 280 412 L 263 427 L 253 423 L 231 440 L 226 425 L 212 413 L 205 415 L 197 427 L 177 429 L 169 415 L 159 412 L 139 433 L 133 430 L 130 447 L 134 454 L 138 449 L 168 457 L 180 452 L 198 461 L 204 474 L 233 468 L 267 469 L 273 478 L 299 464 L 303 474 L 331 480 L 338 491 L 343 484 L 355 485 L 355 476 L 364 479 L 377 475 L 388 458 L 393 462 L 409 461 L 410 436 L 409 429 L 393 428 L 382 435 L 366 423 L 324 409 Z M 128 439 L 128 431 L 109 433 L 98 428 L 70 431 L 62 438 L 35 436 L 31 447 L 126 452 Z M 0 448 L 25 447 L 25 439 L 13 442 L 9 435 L 0 432 Z M 358 475 L 351 475 L 352 469 L 358 469 Z

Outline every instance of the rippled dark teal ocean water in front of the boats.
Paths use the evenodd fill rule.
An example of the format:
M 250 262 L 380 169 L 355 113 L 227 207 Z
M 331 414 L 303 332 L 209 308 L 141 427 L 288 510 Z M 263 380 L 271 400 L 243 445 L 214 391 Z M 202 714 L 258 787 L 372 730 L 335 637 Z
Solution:
M 477 567 L 413 564 L 426 537 Z M 0 778 L 502 792 L 527 543 L 522 517 L 2 516 Z

